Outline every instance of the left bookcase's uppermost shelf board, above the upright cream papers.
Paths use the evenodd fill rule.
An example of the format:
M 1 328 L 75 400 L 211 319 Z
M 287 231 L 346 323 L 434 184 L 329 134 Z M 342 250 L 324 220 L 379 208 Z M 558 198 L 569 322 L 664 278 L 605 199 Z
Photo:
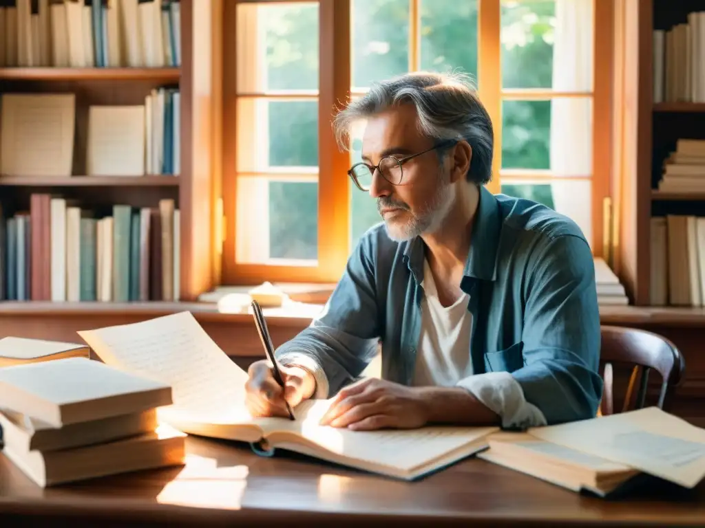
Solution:
M 178 82 L 180 68 L 0 68 L 0 80 L 158 80 Z

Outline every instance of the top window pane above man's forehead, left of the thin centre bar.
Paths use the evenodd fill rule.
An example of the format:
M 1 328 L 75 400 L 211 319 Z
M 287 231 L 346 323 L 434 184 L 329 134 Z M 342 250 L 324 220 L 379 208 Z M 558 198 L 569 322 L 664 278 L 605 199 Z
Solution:
M 409 0 L 353 0 L 353 87 L 409 70 Z

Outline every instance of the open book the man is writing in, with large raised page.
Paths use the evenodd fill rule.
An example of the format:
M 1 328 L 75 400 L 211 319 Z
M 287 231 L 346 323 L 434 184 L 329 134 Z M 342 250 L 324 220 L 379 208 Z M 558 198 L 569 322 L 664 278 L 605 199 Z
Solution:
M 486 448 L 497 427 L 424 427 L 361 432 L 319 425 L 329 401 L 303 402 L 296 420 L 253 418 L 245 407 L 247 373 L 226 356 L 191 313 L 78 332 L 109 365 L 172 387 L 159 420 L 189 434 L 249 442 L 257 453 L 283 448 L 415 479 Z M 264 451 L 263 451 L 264 450 Z

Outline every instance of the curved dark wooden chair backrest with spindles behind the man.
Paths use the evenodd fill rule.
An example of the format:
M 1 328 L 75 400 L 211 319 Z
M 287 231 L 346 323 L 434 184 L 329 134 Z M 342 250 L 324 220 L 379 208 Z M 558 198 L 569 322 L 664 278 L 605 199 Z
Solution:
M 603 325 L 601 335 L 600 363 L 604 381 L 601 414 L 614 413 L 613 364 L 617 363 L 633 365 L 622 412 L 644 407 L 651 370 L 656 370 L 663 380 L 657 403 L 663 408 L 668 391 L 678 385 L 685 370 L 685 360 L 678 348 L 665 337 L 642 329 Z

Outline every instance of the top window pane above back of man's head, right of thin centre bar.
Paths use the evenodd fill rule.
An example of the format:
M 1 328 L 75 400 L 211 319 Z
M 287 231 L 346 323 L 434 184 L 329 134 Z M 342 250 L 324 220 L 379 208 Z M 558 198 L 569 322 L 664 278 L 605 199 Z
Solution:
M 422 0 L 419 11 L 421 69 L 477 79 L 477 0 Z

